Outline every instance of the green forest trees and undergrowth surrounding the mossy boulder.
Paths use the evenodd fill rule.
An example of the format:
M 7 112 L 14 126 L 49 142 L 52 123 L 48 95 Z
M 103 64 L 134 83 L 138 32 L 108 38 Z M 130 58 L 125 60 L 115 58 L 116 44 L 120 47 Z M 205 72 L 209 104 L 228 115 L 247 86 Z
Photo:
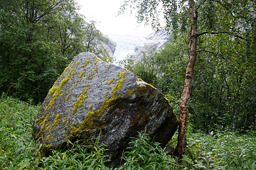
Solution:
M 149 144 L 145 132 L 119 167 L 107 166 L 104 148 L 90 141 L 41 157 L 33 118 L 55 80 L 80 52 L 113 59 L 74 0 L 1 0 L 1 169 L 256 169 L 255 0 L 127 0 L 120 14 L 130 6 L 139 23 L 156 30 L 163 13 L 173 37 L 139 62 L 127 55 L 118 64 L 159 89 L 181 115 L 182 157 Z M 168 146 L 178 146 L 180 136 L 178 130 Z

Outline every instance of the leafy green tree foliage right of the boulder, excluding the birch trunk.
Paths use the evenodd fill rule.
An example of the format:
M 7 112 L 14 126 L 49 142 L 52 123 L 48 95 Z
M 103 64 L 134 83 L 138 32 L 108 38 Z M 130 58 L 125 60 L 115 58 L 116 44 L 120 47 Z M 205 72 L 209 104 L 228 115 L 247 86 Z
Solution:
M 186 49 L 190 38 L 186 35 L 191 24 L 188 20 L 188 1 L 127 0 L 121 12 L 129 4 L 133 11 L 137 10 L 139 22 L 147 22 L 151 18 L 156 25 L 158 21 L 154 19 L 158 11 L 151 6 L 163 6 L 166 29 L 172 30 L 175 40 L 171 44 L 176 46 L 159 52 L 163 61 L 161 64 L 156 60 L 156 54 L 151 54 L 134 64 L 131 70 L 166 94 L 177 111 L 182 91 L 177 83 L 184 79 L 185 71 L 180 68 L 186 62 L 181 60 L 178 63 L 184 65 L 174 67 L 173 72 L 177 73 L 175 79 L 170 63 L 175 59 L 176 49 L 181 56 L 188 56 Z M 255 1 L 196 1 L 196 14 L 198 50 L 188 107 L 191 120 L 198 129 L 206 132 L 255 130 Z M 167 52 L 167 49 L 173 51 L 172 59 L 169 59 L 172 52 Z M 177 86 L 172 86 L 174 84 Z

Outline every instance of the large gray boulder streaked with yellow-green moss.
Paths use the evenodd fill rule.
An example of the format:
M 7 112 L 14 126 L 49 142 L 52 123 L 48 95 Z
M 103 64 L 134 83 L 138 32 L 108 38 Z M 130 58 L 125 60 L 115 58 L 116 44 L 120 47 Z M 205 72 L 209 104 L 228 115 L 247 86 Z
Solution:
M 41 152 L 65 147 L 68 140 L 100 135 L 112 159 L 145 130 L 164 147 L 178 120 L 159 90 L 127 69 L 102 62 L 90 52 L 74 57 L 42 103 L 33 122 Z M 118 154 L 117 154 L 118 155 Z

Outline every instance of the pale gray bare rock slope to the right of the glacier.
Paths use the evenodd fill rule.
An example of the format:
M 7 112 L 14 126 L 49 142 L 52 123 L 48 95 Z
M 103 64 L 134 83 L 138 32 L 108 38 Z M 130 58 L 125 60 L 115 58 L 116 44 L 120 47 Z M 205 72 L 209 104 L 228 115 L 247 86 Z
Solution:
M 144 53 L 148 55 L 152 50 L 156 52 L 161 50 L 161 48 L 164 47 L 164 43 L 169 42 L 171 39 L 172 37 L 168 35 L 168 31 L 164 28 L 156 33 L 149 34 L 146 36 L 146 40 L 148 40 L 149 43 L 145 43 L 145 45 L 142 47 L 136 47 L 134 50 L 135 54 L 132 56 L 132 59 L 139 61 L 142 59 L 142 57 L 144 57 Z

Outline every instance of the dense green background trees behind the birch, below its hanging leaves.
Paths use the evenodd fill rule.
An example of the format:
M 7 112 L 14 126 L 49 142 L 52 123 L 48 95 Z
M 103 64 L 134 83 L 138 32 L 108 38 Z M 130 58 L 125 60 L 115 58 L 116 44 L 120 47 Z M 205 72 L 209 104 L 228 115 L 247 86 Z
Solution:
M 215 38 L 214 41 L 220 39 Z M 223 43 L 227 45 L 230 40 L 226 42 Z M 256 130 L 255 57 L 246 55 L 242 42 L 234 40 L 232 49 L 223 43 L 210 46 L 219 50 L 218 56 L 198 53 L 188 120 L 196 129 L 207 133 L 215 130 L 244 133 Z M 119 64 L 164 93 L 178 115 L 188 61 L 186 47 L 186 42 L 177 38 L 159 52 L 144 55 L 139 62 L 127 56 Z M 235 55 L 236 52 L 240 57 Z

